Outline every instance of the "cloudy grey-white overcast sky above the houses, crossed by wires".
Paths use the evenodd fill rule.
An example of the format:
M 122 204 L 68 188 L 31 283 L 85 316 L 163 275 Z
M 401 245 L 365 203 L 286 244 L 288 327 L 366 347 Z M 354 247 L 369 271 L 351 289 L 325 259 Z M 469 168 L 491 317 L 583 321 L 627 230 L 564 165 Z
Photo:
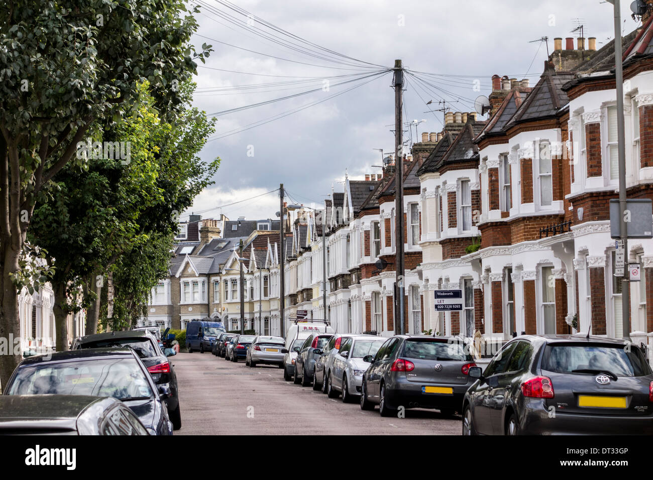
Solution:
M 317 204 L 331 193 L 332 185 L 335 191 L 343 191 L 345 171 L 351 179 L 381 173 L 381 168 L 372 167 L 381 164 L 381 153 L 374 149 L 391 152 L 394 148 L 390 131 L 394 129 L 392 74 L 335 86 L 338 82 L 380 71 L 381 67 L 390 68 L 394 59 L 402 59 L 404 67 L 423 72 L 418 75 L 430 83 L 408 77 L 404 121 L 425 119 L 417 127 L 418 134 L 441 131 L 442 113 L 428 110 L 440 108 L 438 101 L 445 99 L 453 111 L 473 111 L 473 100 L 490 93 L 492 74 L 529 78 L 533 86 L 543 70 L 547 49 L 546 44 L 532 40 L 547 36 L 549 50 L 553 50 L 554 37 L 579 36 L 571 33 L 579 24 L 584 25 L 584 37 L 596 37 L 597 49 L 614 36 L 613 7 L 600 0 L 234 0 L 231 5 L 253 15 L 249 25 L 246 15 L 220 1 L 199 2 L 210 8 L 200 5 L 199 30 L 193 42 L 198 47 L 204 42 L 212 44 L 215 51 L 206 65 L 200 63 L 198 68 L 197 107 L 215 114 L 311 89 L 319 91 L 217 116 L 214 137 L 221 138 L 211 140 L 202 150 L 206 160 L 221 157 L 215 185 L 202 192 L 186 212 L 212 209 L 202 212 L 204 218 L 220 212 L 230 219 L 274 217 L 279 210 L 278 192 L 221 210 L 217 207 L 278 189 L 279 183 L 291 195 L 289 201 Z M 630 17 L 629 4 L 622 2 L 624 34 L 637 27 Z M 227 14 L 234 18 L 225 18 Z M 295 48 L 309 48 L 296 38 L 266 28 L 257 19 L 381 67 L 340 57 L 342 62 L 356 64 L 344 65 L 300 54 L 257 35 L 277 35 Z M 321 54 L 332 56 L 324 51 Z M 298 80 L 304 83 L 279 84 Z M 372 82 L 360 85 L 368 80 Z M 323 89 L 325 82 L 328 88 Z M 264 85 L 268 83 L 273 85 Z M 263 86 L 251 87 L 260 84 Z M 433 103 L 427 106 L 430 100 Z M 323 102 L 223 136 L 318 101 Z M 408 134 L 404 135 L 406 138 Z M 411 135 L 415 137 L 415 127 L 411 127 Z

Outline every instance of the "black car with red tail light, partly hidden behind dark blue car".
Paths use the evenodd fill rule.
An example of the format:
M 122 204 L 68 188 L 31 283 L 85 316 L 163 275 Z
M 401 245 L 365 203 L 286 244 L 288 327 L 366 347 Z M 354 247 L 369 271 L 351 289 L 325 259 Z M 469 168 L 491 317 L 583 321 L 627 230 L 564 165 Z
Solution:
M 86 348 L 130 347 L 148 368 L 157 386 L 167 387 L 170 395 L 165 400 L 168 415 L 175 430 L 182 428 L 182 411 L 179 404 L 179 389 L 174 366 L 167 357 L 175 355 L 173 349 L 161 351 L 159 342 L 143 330 L 108 332 L 78 337 L 72 342 L 71 350 Z

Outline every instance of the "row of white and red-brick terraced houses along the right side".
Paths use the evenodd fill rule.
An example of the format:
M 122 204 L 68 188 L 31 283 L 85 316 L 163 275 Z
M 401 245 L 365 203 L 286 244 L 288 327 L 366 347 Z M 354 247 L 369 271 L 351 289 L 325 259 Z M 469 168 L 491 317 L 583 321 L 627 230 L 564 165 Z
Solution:
M 630 298 L 622 298 L 609 202 L 618 198 L 620 113 L 628 198 L 653 199 L 652 22 L 645 18 L 624 37 L 624 112 L 616 110 L 613 42 L 596 50 L 595 39 L 566 39 L 564 48 L 555 39 L 534 85 L 492 77 L 488 120 L 448 112 L 443 131 L 423 133 L 402 161 L 389 157 L 383 173 L 353 180 L 345 172 L 343 191 L 332 191 L 319 207 L 326 212 L 327 319 L 334 328 L 385 336 L 396 330 L 395 195 L 402 174 L 406 332 L 505 340 L 591 328 L 620 337 L 628 301 L 631 336 L 651 342 L 653 240 L 629 242 L 628 263 L 638 263 L 642 274 Z M 153 292 L 182 308 L 161 314 L 153 305 L 149 321 L 183 327 L 214 315 L 238 327 L 241 240 L 247 327 L 281 332 L 279 255 L 285 328 L 300 310 L 323 318 L 323 221 L 313 212 L 285 212 L 283 252 L 278 220 L 262 228 L 265 221 L 255 221 L 241 234 L 231 231 L 233 221 L 195 218 L 204 240 L 180 240 L 170 278 L 160 284 L 165 293 Z M 436 312 L 438 289 L 462 290 L 462 312 Z

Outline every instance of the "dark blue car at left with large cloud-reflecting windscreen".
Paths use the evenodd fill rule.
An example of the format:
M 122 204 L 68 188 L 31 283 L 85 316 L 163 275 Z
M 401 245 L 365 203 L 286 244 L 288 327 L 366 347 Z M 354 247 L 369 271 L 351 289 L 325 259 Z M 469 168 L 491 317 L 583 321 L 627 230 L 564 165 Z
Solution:
M 3 390 L 5 395 L 93 395 L 118 398 L 151 435 L 172 435 L 163 400 L 148 369 L 130 348 L 69 350 L 36 355 L 18 364 Z

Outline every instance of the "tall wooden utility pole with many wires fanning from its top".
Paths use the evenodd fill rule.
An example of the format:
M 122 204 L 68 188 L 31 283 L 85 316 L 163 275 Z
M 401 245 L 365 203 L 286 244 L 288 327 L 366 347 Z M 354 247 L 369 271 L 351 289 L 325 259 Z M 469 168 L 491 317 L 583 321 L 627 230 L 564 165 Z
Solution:
M 396 268 L 394 298 L 394 333 L 403 334 L 404 328 L 404 141 L 402 125 L 402 94 L 404 69 L 401 60 L 394 61 L 394 212 Z

